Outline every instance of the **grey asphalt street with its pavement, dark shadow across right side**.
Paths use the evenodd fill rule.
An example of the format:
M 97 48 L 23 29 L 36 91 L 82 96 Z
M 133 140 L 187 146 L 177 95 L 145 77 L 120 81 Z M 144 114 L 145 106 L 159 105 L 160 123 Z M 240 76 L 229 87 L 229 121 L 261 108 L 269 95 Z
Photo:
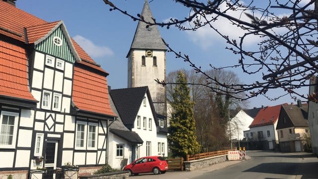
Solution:
M 247 151 L 246 161 L 215 164 L 196 171 L 139 174 L 131 179 L 318 179 L 318 159 L 310 153 Z

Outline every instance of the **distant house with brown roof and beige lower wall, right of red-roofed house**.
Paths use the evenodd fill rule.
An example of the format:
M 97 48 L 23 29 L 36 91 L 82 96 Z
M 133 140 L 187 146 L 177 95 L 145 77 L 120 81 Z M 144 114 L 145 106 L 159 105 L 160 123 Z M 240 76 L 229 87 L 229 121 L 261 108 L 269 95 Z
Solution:
M 280 151 L 304 151 L 304 145 L 310 143 L 308 124 L 308 104 L 283 105 L 279 114 L 276 130 Z

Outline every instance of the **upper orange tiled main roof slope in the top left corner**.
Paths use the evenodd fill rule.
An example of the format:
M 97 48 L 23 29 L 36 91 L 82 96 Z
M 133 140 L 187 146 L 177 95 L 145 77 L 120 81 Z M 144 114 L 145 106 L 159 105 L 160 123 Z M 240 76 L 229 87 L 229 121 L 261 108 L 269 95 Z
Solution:
M 24 27 L 44 24 L 46 21 L 0 0 L 0 33 L 25 41 Z

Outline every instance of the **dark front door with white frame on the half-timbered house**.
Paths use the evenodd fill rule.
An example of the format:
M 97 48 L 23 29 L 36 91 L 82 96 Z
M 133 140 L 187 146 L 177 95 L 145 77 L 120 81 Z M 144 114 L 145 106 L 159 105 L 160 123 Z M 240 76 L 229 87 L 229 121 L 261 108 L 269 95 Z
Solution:
M 48 170 L 48 173 L 44 174 L 43 179 L 55 179 L 53 170 L 56 169 L 57 153 L 58 141 L 47 141 L 44 157 L 44 167 Z

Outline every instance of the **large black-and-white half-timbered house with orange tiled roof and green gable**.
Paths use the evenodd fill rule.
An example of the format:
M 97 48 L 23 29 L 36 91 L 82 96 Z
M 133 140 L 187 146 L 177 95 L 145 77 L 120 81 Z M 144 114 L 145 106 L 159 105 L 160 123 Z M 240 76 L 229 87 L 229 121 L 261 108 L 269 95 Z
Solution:
M 116 116 L 106 77 L 70 37 L 0 0 L 0 178 L 55 178 L 65 163 L 91 173 L 106 164 L 107 123 Z M 43 157 L 43 160 L 36 160 Z

